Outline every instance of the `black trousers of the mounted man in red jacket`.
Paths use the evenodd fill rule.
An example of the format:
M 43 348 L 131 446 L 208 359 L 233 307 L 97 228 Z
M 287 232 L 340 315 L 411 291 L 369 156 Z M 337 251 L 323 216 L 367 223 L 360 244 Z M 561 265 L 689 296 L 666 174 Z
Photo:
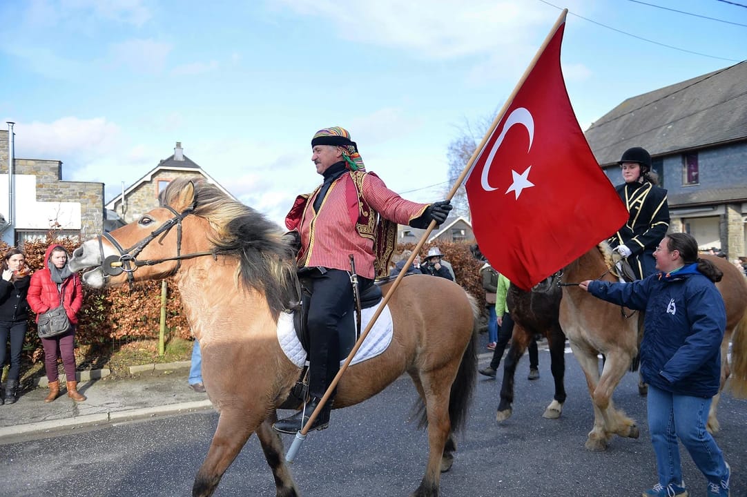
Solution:
M 355 299 L 347 271 L 316 268 L 309 276 L 309 393 L 321 398 L 340 370 L 341 333 L 355 333 Z M 359 282 L 362 288 L 373 283 Z

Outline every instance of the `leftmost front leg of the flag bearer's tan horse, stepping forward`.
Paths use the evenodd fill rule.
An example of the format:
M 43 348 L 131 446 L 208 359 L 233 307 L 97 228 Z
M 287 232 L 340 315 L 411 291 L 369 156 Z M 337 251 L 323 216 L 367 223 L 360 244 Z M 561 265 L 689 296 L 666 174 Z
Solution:
M 197 471 L 192 486 L 192 497 L 209 497 L 220 482 L 233 460 L 238 455 L 252 432 L 261 424 L 261 419 L 252 422 L 243 410 L 221 411 L 218 426 L 202 466 Z

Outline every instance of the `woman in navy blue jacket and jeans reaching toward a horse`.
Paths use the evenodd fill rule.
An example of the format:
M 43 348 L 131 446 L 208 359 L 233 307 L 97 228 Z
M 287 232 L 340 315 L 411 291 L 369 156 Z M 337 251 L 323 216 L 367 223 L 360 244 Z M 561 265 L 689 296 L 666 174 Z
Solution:
M 686 233 L 665 236 L 654 258 L 659 272 L 644 280 L 580 283 L 595 297 L 646 312 L 641 374 L 649 385 L 648 427 L 659 483 L 642 496 L 688 495 L 678 438 L 707 478 L 707 495 L 728 496 L 730 469 L 706 430 L 721 374 L 726 309 L 714 283 L 723 274 L 698 258 L 698 243 Z

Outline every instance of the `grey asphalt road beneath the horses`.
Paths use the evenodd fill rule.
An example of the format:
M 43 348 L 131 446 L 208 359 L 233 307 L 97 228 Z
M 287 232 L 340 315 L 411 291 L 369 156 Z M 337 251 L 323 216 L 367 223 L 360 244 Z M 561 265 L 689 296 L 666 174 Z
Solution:
M 501 425 L 495 422 L 498 383 L 480 377 L 456 462 L 441 479 L 442 496 L 638 496 L 654 483 L 635 375 L 624 378 L 615 398 L 639 422 L 641 438 L 616 438 L 607 452 L 592 453 L 583 448 L 593 420 L 586 385 L 573 356 L 566 357 L 568 401 L 558 420 L 541 416 L 552 395 L 546 351 L 540 380 L 526 380 L 526 358 L 519 365 L 514 416 Z M 483 354 L 481 364 L 487 361 Z M 311 433 L 292 466 L 303 495 L 408 496 L 415 490 L 427 439 L 407 422 L 413 398 L 409 380 L 400 379 L 376 398 L 332 413 L 329 429 Z M 731 495 L 747 496 L 747 401 L 726 396 L 719 419 L 719 445 L 734 469 Z M 190 496 L 216 424 L 216 413 L 207 411 L 1 445 L 0 496 Z M 704 495 L 704 480 L 686 455 L 684 475 L 690 495 Z M 273 489 L 252 438 L 215 496 L 273 497 Z

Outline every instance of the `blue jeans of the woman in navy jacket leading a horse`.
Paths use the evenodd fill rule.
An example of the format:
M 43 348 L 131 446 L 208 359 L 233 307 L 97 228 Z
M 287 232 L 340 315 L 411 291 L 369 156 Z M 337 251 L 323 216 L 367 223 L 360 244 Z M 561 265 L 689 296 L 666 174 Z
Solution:
M 724 455 L 706 430 L 711 400 L 648 386 L 648 429 L 663 487 L 682 484 L 678 438 L 710 483 L 726 476 Z

